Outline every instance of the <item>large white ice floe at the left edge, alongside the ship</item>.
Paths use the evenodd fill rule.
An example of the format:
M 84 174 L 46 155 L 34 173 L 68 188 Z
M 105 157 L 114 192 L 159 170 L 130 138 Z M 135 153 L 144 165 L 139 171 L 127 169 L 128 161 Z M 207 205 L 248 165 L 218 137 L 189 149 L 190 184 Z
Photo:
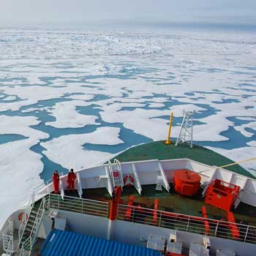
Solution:
M 43 169 L 40 161 L 42 155 L 34 153 L 30 148 L 49 135 L 30 127 L 37 124 L 39 121 L 32 116 L 1 116 L 0 134 L 17 134 L 25 138 L 0 144 L 0 175 L 4 181 L 0 187 L 0 227 L 12 211 L 26 203 L 30 198 L 31 189 L 42 182 L 39 178 Z

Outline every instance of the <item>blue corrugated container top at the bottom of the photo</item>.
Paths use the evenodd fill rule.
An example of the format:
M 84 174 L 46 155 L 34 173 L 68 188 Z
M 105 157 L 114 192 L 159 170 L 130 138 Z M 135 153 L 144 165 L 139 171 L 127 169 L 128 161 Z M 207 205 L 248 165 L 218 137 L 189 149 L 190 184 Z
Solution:
M 63 230 L 52 230 L 43 244 L 42 256 L 160 256 L 160 252 L 141 246 L 84 236 Z

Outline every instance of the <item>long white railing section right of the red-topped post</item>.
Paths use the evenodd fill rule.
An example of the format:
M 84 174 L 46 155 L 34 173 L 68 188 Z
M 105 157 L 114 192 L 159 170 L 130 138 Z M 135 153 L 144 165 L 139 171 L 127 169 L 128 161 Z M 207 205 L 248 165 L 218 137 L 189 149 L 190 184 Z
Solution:
M 118 205 L 117 219 L 256 244 L 256 227 L 127 205 Z

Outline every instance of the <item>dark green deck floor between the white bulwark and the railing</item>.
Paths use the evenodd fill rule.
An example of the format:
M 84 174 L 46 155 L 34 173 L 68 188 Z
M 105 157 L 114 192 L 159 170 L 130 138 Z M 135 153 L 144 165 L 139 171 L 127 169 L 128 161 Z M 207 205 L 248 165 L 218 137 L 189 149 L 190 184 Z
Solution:
M 67 196 L 75 196 L 72 192 L 65 192 Z M 134 187 L 123 187 L 121 204 L 127 205 L 129 196 L 135 197 L 134 206 L 140 205 L 143 208 L 154 209 L 154 200 L 158 199 L 159 211 L 169 211 L 176 214 L 187 214 L 195 217 L 203 217 L 201 208 L 206 206 L 207 215 L 210 219 L 226 219 L 227 213 L 222 209 L 208 205 L 204 198 L 198 193 L 194 197 L 184 197 L 175 192 L 170 186 L 170 192 L 165 189 L 156 190 L 156 185 L 143 185 L 141 195 Z M 78 195 L 77 195 L 78 196 Z M 83 198 L 110 202 L 111 198 L 107 189 L 86 189 Z M 240 203 L 238 208 L 233 210 L 236 223 L 256 226 L 256 208 Z

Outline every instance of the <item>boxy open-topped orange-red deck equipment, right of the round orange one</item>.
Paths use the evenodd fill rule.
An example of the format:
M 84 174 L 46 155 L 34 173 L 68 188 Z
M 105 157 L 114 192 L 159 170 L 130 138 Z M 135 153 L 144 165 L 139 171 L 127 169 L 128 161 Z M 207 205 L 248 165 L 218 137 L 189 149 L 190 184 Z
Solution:
M 238 197 L 240 187 L 220 179 L 211 182 L 206 191 L 206 203 L 230 211 Z

